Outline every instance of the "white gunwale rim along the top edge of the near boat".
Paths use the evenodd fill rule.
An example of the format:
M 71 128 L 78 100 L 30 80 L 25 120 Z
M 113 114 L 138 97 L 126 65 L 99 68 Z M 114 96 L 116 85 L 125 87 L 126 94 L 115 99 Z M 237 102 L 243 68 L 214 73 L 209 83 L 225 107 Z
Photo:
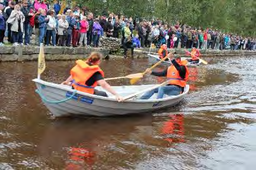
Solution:
M 69 89 L 67 87 L 63 87 L 63 86 L 59 86 L 59 84 L 56 84 L 56 83 L 50 83 L 50 82 L 47 82 L 47 81 L 43 81 L 41 79 L 33 79 L 32 81 L 36 82 L 36 83 L 39 83 L 39 84 L 43 84 L 45 86 L 50 86 L 50 87 L 53 87 L 53 88 L 56 88 L 56 89 L 60 89 L 60 90 L 64 90 L 64 91 L 70 91 L 72 93 L 76 93 L 76 94 L 81 94 L 83 96 L 87 96 L 87 97 L 91 97 L 93 99 L 100 99 L 100 100 L 107 100 L 107 101 L 111 101 L 111 102 L 117 102 L 116 99 L 114 98 L 110 98 L 110 97 L 103 97 L 103 96 L 97 96 L 97 95 L 94 95 L 94 94 L 89 94 L 89 93 L 84 93 L 82 91 L 77 91 L 77 90 L 74 90 L 74 89 Z M 147 85 L 157 85 L 157 84 L 147 84 Z M 120 86 L 113 86 L 113 87 L 120 87 Z M 164 98 L 164 99 L 148 99 L 148 100 L 126 100 L 124 101 L 125 103 L 156 103 L 156 102 L 168 102 L 168 100 L 172 100 L 172 99 L 178 99 L 178 98 L 183 98 L 189 91 L 189 85 L 187 84 L 185 86 L 185 91 L 182 93 L 182 94 L 179 94 L 177 96 L 171 96 L 171 97 L 167 97 L 167 98 Z M 117 102 L 117 103 L 124 103 L 124 102 Z

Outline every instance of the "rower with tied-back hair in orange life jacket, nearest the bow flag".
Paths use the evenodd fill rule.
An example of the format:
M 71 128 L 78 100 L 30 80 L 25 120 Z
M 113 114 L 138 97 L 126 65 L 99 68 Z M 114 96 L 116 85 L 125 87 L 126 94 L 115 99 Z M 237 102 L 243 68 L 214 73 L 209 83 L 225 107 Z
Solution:
M 123 97 L 119 96 L 119 94 L 117 94 L 104 80 L 104 72 L 98 66 L 102 57 L 103 55 L 101 53 L 92 52 L 87 61 L 77 60 L 76 66 L 71 69 L 71 76 L 69 76 L 62 84 L 71 85 L 72 89 L 84 93 L 108 97 L 105 91 L 94 89 L 97 85 L 100 85 L 103 89 L 116 96 L 116 99 L 121 102 Z

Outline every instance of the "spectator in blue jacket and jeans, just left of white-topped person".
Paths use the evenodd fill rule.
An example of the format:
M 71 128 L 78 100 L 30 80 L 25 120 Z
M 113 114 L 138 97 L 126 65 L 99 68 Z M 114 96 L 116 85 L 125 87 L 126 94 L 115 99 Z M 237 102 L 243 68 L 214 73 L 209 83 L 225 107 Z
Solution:
M 46 27 L 46 23 L 49 22 L 49 18 L 46 17 L 46 10 L 41 9 L 41 14 L 38 18 L 39 21 L 39 46 L 41 43 L 43 43 L 44 40 L 44 31 Z

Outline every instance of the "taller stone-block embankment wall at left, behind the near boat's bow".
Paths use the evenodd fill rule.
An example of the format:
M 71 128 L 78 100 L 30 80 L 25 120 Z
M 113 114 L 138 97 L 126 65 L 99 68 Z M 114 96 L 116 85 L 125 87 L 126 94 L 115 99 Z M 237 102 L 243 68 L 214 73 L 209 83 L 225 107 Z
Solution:
M 44 47 L 44 57 L 46 60 L 76 60 L 88 57 L 92 51 L 103 53 L 108 57 L 110 50 L 105 48 L 70 48 L 70 47 Z M 0 61 L 33 61 L 37 60 L 39 47 L 19 46 L 0 47 Z

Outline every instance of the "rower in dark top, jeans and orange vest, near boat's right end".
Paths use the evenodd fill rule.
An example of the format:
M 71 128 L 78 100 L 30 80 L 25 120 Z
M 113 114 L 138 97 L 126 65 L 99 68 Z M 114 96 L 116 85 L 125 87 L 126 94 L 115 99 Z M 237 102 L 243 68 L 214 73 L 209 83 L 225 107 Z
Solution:
M 170 80 L 169 84 L 146 92 L 140 99 L 149 99 L 154 93 L 158 93 L 157 99 L 162 99 L 164 94 L 167 94 L 168 96 L 176 96 L 183 93 L 189 76 L 189 71 L 186 66 L 187 60 L 181 60 L 180 56 L 171 53 L 168 54 L 168 57 L 171 60 L 172 65 L 165 70 L 151 71 L 150 69 L 147 69 L 146 71 L 153 76 L 167 77 Z

